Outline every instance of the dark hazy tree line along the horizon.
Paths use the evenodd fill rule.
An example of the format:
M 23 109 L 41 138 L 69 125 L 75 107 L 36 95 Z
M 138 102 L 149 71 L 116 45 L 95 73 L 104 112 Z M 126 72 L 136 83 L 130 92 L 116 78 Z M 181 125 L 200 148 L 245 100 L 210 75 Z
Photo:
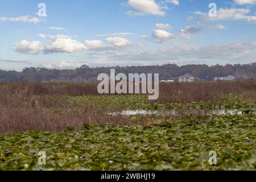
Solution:
M 159 73 L 160 80 L 171 77 L 179 77 L 185 73 L 200 78 L 200 80 L 213 80 L 214 77 L 236 76 L 236 78 L 256 78 L 256 63 L 251 64 L 226 64 L 212 65 L 190 64 L 178 66 L 176 64 L 131 66 L 131 67 L 96 67 L 90 68 L 82 65 L 75 70 L 46 69 L 46 68 L 24 68 L 22 72 L 2 71 L 0 69 L 0 82 L 91 82 L 97 81 L 100 73 L 110 74 L 110 68 L 115 68 L 116 73 Z

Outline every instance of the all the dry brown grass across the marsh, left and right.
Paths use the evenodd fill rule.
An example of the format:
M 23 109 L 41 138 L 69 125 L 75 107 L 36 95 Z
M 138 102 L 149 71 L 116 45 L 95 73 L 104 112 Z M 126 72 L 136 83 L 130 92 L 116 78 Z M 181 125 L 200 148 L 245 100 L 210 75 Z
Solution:
M 256 81 L 194 82 L 161 84 L 154 102 L 199 102 L 221 100 L 223 94 L 238 93 L 256 102 Z M 72 105 L 59 95 L 96 95 L 97 83 L 0 84 L 0 133 L 14 131 L 60 131 L 80 129 L 83 123 L 133 125 L 126 116 L 106 113 L 104 106 Z M 142 125 L 156 122 L 143 119 Z M 171 122 L 171 121 L 170 121 Z

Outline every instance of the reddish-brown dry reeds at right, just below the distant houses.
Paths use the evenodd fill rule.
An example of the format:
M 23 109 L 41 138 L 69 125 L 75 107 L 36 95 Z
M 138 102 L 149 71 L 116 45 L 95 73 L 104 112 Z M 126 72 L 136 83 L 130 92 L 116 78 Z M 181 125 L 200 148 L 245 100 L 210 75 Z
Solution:
M 220 102 L 224 94 L 240 94 L 256 102 L 256 80 L 162 83 L 156 102 Z

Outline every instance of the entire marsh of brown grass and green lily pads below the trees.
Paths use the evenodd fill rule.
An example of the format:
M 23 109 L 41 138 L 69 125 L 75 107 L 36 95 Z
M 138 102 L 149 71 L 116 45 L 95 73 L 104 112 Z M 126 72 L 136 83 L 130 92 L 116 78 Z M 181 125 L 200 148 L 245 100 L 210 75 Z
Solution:
M 0 84 L 0 170 L 255 170 L 255 106 L 254 80 L 163 83 L 155 101 Z

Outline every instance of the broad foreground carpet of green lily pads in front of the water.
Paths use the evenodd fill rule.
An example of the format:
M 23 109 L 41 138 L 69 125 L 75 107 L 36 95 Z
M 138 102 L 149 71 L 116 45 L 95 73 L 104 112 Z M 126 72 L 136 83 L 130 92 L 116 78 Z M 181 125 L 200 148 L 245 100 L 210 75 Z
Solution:
M 81 131 L 0 134 L 1 170 L 255 170 L 255 114 L 203 123 L 84 125 Z M 196 119 L 195 119 L 196 120 Z M 190 122 L 189 122 L 190 121 Z M 38 152 L 46 164 L 38 164 Z M 209 151 L 217 165 L 210 166 Z

